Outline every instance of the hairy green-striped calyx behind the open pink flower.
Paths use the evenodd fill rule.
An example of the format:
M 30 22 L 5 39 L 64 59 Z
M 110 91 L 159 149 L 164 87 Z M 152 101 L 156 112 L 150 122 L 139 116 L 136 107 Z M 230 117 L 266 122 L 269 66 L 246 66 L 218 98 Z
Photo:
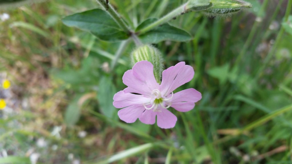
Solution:
M 163 60 L 160 51 L 151 46 L 143 45 L 132 52 L 132 64 L 147 60 L 153 64 L 153 73 L 157 83 L 161 83 L 161 74 L 163 71 Z

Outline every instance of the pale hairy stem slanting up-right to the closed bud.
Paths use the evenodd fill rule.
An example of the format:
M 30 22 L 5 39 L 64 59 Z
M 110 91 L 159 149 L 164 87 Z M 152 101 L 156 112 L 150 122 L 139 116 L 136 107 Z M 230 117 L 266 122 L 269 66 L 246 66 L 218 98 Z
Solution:
M 147 31 L 150 31 L 151 29 L 153 29 L 153 28 L 155 28 L 155 27 L 157 27 L 159 25 L 162 25 L 162 24 L 168 22 L 169 20 L 177 17 L 178 15 L 186 12 L 187 11 L 187 8 L 186 8 L 187 4 L 188 4 L 188 2 L 183 4 L 180 7 L 176 8 L 175 10 L 171 11 L 170 13 L 165 15 L 164 17 L 162 17 L 159 20 L 157 20 L 156 22 L 153 22 L 152 24 L 144 27 L 143 29 L 141 29 L 139 31 L 139 34 L 143 34 L 143 33 L 147 32 Z

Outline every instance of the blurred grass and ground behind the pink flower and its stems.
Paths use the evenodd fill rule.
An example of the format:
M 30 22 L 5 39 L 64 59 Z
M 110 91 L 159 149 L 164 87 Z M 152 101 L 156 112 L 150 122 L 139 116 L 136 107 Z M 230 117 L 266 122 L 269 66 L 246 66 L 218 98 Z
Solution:
M 192 41 L 154 45 L 166 68 L 195 70 L 176 91 L 203 96 L 187 113 L 171 110 L 178 122 L 166 130 L 119 121 L 112 106 L 134 43 L 112 69 L 121 43 L 62 24 L 96 1 L 0 1 L 0 163 L 292 163 L 290 0 L 248 1 L 234 14 L 179 16 L 170 24 Z M 110 0 L 133 27 L 185 2 Z

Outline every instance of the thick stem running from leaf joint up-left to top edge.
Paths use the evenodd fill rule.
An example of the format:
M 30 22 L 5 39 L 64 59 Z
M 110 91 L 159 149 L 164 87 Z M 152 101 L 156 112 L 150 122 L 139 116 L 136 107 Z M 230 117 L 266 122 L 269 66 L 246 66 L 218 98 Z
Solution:
M 107 13 L 114 19 L 115 22 L 124 30 L 124 32 L 131 34 L 131 29 L 128 28 L 121 15 L 114 10 L 112 5 L 107 3 L 105 0 L 96 0 L 98 4 L 100 4 Z

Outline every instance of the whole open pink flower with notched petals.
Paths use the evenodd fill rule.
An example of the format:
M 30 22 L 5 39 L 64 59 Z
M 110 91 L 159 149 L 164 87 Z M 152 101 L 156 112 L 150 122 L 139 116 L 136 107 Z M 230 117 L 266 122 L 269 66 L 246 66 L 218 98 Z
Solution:
M 185 62 L 180 62 L 162 72 L 162 82 L 159 85 L 154 78 L 151 62 L 137 62 L 125 72 L 123 83 L 128 88 L 114 95 L 113 105 L 123 108 L 118 115 L 126 123 L 133 123 L 139 118 L 142 123 L 154 124 L 157 116 L 160 128 L 173 128 L 177 118 L 168 108 L 187 112 L 202 98 L 201 93 L 193 88 L 173 93 L 173 90 L 191 81 L 193 77 L 194 69 L 185 65 Z

